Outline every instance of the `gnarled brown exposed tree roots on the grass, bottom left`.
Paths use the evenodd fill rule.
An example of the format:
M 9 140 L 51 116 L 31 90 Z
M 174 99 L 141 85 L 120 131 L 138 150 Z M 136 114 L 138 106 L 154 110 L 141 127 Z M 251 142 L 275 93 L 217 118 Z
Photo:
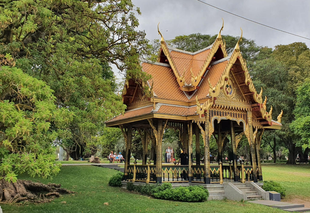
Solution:
M 68 189 L 60 188 L 60 184 L 35 183 L 30 180 L 17 180 L 16 183 L 8 183 L 0 180 L 0 201 L 8 203 L 17 202 L 51 202 L 61 194 L 74 193 Z

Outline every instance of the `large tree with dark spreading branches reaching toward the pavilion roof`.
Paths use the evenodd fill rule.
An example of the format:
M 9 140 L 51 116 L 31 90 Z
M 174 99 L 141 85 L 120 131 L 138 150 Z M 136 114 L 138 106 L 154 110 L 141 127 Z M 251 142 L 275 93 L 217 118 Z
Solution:
M 74 113 L 58 140 L 71 157 L 93 152 L 103 121 L 125 109 L 109 64 L 133 78 L 146 77 L 138 63 L 147 45 L 145 33 L 135 31 L 139 8 L 130 0 L 0 4 L 0 53 L 10 53 L 23 72 L 47 82 L 56 106 Z

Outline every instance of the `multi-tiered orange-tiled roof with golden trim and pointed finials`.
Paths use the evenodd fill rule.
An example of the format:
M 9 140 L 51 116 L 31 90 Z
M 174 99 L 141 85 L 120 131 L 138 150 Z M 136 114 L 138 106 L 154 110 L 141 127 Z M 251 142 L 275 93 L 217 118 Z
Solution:
M 257 93 L 246 61 L 241 55 L 239 42 L 242 30 L 234 50 L 227 54 L 221 36 L 223 26 L 211 46 L 193 53 L 169 46 L 158 29 L 161 47 L 157 62 L 141 61 L 142 71 L 152 78 L 140 83 L 133 79 L 126 80 L 122 97 L 127 110 L 123 115 L 107 121 L 107 126 L 150 118 L 197 120 L 201 117 L 197 106 L 210 100 L 214 105 L 239 109 L 250 107 L 254 126 L 281 128 L 281 115 L 277 121 L 272 120 L 272 107 L 269 112 L 266 111 L 267 99 L 263 102 L 262 90 Z M 228 79 L 231 79 L 231 85 Z M 148 93 L 142 89 L 146 84 L 149 87 Z M 228 92 L 223 90 L 224 87 L 236 93 L 231 96 L 231 100 L 217 99 L 222 95 L 221 91 Z

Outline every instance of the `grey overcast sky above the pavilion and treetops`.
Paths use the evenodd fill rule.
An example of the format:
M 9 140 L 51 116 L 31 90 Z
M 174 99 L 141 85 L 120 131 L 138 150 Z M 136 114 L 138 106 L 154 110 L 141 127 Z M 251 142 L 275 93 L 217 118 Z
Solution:
M 166 40 L 179 35 L 219 33 L 224 19 L 222 35 L 254 39 L 259 46 L 274 47 L 278 44 L 310 40 L 270 29 L 220 11 L 197 0 L 132 0 L 140 7 L 139 30 L 145 30 L 148 40 L 159 39 L 157 24 Z M 235 13 L 250 20 L 310 38 L 309 0 L 202 0 L 215 7 Z M 119 75 L 117 75 L 119 76 Z

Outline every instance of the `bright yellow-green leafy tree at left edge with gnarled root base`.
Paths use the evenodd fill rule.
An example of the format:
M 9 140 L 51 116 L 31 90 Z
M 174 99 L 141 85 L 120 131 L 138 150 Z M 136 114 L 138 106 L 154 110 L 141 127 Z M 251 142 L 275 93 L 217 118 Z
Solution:
M 53 90 L 14 67 L 9 54 L 2 59 L 3 64 L 11 66 L 0 64 L 0 189 L 4 192 L 0 201 L 37 200 L 41 197 L 26 192 L 24 185 L 42 191 L 50 186 L 17 180 L 17 176 L 27 173 L 48 178 L 60 171 L 52 146 L 58 133 L 50 127 L 70 122 L 73 113 L 57 109 Z M 58 193 L 57 189 L 50 192 Z

